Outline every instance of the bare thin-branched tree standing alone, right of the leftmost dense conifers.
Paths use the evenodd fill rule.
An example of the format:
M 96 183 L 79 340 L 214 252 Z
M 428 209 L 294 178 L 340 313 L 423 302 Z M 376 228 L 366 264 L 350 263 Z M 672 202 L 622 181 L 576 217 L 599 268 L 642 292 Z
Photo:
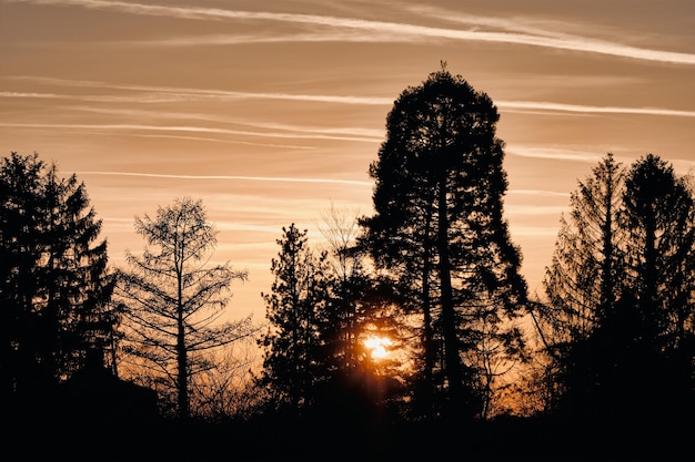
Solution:
M 135 232 L 150 247 L 127 253 L 130 271 L 119 271 L 124 351 L 143 361 L 157 388 L 177 398 L 180 419 L 190 417 L 190 378 L 212 367 L 205 352 L 253 332 L 251 316 L 221 321 L 230 285 L 246 271 L 205 264 L 216 245 L 202 201 L 177 198 L 157 217 L 135 217 Z

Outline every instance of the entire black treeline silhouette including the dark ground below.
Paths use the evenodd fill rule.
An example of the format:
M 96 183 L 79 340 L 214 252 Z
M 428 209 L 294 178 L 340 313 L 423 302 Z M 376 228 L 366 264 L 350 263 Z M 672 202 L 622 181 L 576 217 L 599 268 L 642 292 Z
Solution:
M 207 264 L 202 199 L 137 217 L 147 247 L 112 268 L 77 176 L 2 158 L 9 460 L 692 456 L 693 178 L 605 154 L 532 295 L 498 119 L 444 62 L 405 89 L 369 166 L 373 214 L 330 211 L 323 247 L 283 227 L 261 324 L 222 321 L 248 276 Z

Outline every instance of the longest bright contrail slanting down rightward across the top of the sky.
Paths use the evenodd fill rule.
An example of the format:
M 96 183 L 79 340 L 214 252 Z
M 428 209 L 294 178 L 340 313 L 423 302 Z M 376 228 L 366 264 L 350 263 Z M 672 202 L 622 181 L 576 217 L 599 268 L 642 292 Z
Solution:
M 346 29 L 355 34 L 356 32 L 369 34 L 379 33 L 381 40 L 384 34 L 392 40 L 402 40 L 404 37 L 416 37 L 421 39 L 444 39 L 479 42 L 511 43 L 532 47 L 542 47 L 556 50 L 578 51 L 596 54 L 614 55 L 634 60 L 663 62 L 673 64 L 695 64 L 695 54 L 681 53 L 663 50 L 652 50 L 639 47 L 625 45 L 604 40 L 586 37 L 567 35 L 557 33 L 544 33 L 538 30 L 508 32 L 460 30 L 451 28 L 440 28 L 431 25 L 420 25 L 406 22 L 373 21 L 356 18 L 341 18 L 334 16 L 300 14 L 266 11 L 239 11 L 220 8 L 200 7 L 171 7 L 158 4 L 130 3 L 122 1 L 107 0 L 14 0 L 36 4 L 74 6 L 94 10 L 118 11 L 131 14 L 144 14 L 157 17 L 169 17 L 188 20 L 244 20 L 244 21 L 278 21 L 311 27 L 326 27 L 332 29 Z M 494 21 L 485 17 L 470 17 L 467 22 L 487 21 L 488 25 L 496 25 Z

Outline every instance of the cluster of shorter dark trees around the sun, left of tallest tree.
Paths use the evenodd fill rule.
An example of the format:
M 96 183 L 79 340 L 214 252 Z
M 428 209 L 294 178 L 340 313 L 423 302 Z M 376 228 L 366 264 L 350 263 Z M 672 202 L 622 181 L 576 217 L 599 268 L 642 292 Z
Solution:
M 333 224 L 326 233 L 350 235 Z M 259 340 L 264 351 L 259 383 L 283 413 L 364 417 L 402 391 L 397 361 L 373 358 L 366 346 L 374 339 L 395 345 L 396 316 L 351 242 L 329 239 L 330 249 L 316 254 L 308 230 L 294 224 L 278 239 L 275 278 L 263 294 L 269 322 Z

